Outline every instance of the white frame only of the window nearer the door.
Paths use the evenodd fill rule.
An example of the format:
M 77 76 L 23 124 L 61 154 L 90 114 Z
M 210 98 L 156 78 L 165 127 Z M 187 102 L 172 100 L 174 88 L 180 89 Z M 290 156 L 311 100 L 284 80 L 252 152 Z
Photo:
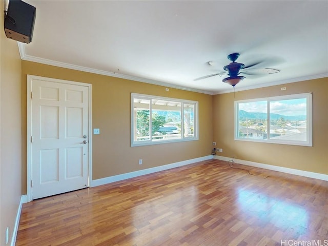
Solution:
M 142 140 L 142 141 L 136 141 L 134 139 L 135 135 L 135 114 L 134 114 L 134 99 L 139 98 L 139 99 L 145 99 L 145 100 L 150 100 L 150 134 L 151 134 L 151 129 L 152 129 L 152 100 L 167 100 L 167 101 L 174 101 L 181 103 L 181 138 L 177 139 L 168 139 L 168 140 L 152 140 L 152 137 L 150 137 L 149 140 Z M 189 104 L 189 105 L 194 105 L 194 136 L 193 137 L 184 137 L 183 136 L 183 122 L 184 122 L 184 115 L 183 115 L 183 105 L 184 104 Z M 147 94 L 139 94 L 139 93 L 131 93 L 131 147 L 136 147 L 136 146 L 147 146 L 147 145 L 158 145 L 158 144 L 167 144 L 171 142 L 182 142 L 182 141 L 194 141 L 198 140 L 199 138 L 199 131 L 198 131 L 198 125 L 199 125 L 199 118 L 198 118 L 198 101 L 193 101 L 193 100 L 185 100 L 185 99 L 178 99 L 178 98 L 171 98 L 171 97 L 162 97 L 162 96 L 154 96 L 154 95 L 147 95 Z

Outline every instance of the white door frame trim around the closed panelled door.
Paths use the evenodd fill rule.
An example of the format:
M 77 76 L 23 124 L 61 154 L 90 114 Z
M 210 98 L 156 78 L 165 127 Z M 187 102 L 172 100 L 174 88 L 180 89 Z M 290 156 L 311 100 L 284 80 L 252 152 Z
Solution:
M 89 131 L 89 165 L 88 165 L 88 187 L 92 180 L 92 85 L 88 83 L 81 83 L 70 80 L 63 80 L 57 78 L 48 78 L 36 75 L 27 75 L 27 201 L 32 201 L 33 187 L 32 187 L 32 80 L 40 79 L 55 83 L 62 83 L 66 85 L 77 85 L 88 87 L 89 91 L 89 110 L 88 110 L 88 131 Z

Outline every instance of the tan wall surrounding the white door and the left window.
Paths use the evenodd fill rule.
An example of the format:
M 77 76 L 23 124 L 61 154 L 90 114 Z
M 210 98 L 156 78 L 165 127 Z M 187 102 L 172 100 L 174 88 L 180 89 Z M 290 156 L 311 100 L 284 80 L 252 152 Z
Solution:
M 100 128 L 100 135 L 93 135 L 92 139 L 93 179 L 211 154 L 213 135 L 211 95 L 173 88 L 167 92 L 162 86 L 22 61 L 23 126 L 26 126 L 27 74 L 92 84 L 92 127 Z M 130 95 L 132 92 L 198 101 L 199 140 L 131 147 Z M 23 141 L 25 142 L 26 129 L 24 131 Z M 139 159 L 143 160 L 142 165 L 139 165 Z M 24 161 L 23 191 L 26 191 L 25 163 Z

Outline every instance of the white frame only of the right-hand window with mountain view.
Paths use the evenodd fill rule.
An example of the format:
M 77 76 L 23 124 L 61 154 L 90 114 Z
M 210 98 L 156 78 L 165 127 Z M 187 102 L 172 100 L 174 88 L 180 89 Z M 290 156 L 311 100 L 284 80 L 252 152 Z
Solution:
M 238 136 L 239 132 L 239 104 L 240 103 L 252 103 L 256 101 L 267 101 L 267 133 L 270 133 L 270 102 L 277 100 L 291 100 L 291 99 L 301 99 L 306 98 L 306 140 L 286 140 L 286 139 L 274 139 L 270 138 L 268 134 L 267 139 L 251 139 L 251 138 L 241 138 Z M 309 93 L 300 93 L 300 94 L 291 94 L 283 96 L 273 96 L 273 97 L 264 97 L 264 98 L 253 98 L 245 100 L 234 101 L 234 139 L 238 141 L 251 141 L 251 142 L 266 142 L 270 144 L 282 144 L 282 145 L 297 145 L 297 146 L 308 146 L 312 147 L 312 131 L 313 131 L 313 122 L 312 122 L 312 92 Z

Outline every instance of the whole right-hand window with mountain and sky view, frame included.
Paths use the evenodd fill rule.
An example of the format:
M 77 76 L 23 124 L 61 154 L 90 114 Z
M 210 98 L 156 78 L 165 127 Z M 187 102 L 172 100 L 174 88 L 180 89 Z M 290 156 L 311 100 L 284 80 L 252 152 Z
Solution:
M 235 140 L 312 146 L 312 93 L 235 101 Z

